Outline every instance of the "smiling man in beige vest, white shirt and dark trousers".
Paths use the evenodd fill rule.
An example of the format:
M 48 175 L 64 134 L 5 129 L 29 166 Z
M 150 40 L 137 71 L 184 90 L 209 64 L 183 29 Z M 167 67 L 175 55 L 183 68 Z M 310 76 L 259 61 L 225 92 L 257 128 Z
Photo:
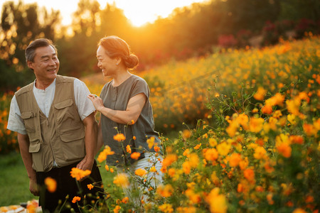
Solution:
M 26 62 L 36 80 L 14 95 L 7 128 L 18 133 L 29 189 L 33 195 L 40 196 L 43 212 L 61 208 L 65 197 L 68 200 L 62 212 L 70 212 L 70 207 L 79 212 L 73 197 L 91 204 L 97 200 L 97 193 L 103 192 L 94 159 L 97 123 L 95 107 L 87 99 L 90 91 L 80 80 L 58 75 L 57 50 L 46 38 L 28 45 Z M 91 171 L 90 177 L 80 180 L 81 190 L 70 176 L 72 168 Z M 46 178 L 57 182 L 54 192 L 46 189 Z M 89 190 L 90 184 L 97 187 Z

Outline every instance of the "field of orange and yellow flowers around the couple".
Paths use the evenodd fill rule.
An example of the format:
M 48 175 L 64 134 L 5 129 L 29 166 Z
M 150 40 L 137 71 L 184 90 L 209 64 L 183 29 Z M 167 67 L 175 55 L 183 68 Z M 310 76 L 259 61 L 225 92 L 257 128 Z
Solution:
M 103 161 L 112 151 L 100 153 L 100 170 L 114 172 L 114 181 L 104 183 L 106 196 L 95 210 L 319 212 L 319 58 L 320 38 L 309 35 L 262 49 L 222 49 L 139 74 L 151 90 L 156 131 L 177 131 L 178 138 L 149 140 L 164 148 L 161 170 L 117 175 Z M 100 94 L 101 84 L 85 83 Z M 0 125 L 10 99 L 1 98 Z M 16 141 L 0 127 L 3 152 Z M 164 175 L 162 184 L 151 185 L 155 173 Z M 121 190 L 133 180 L 142 183 L 132 194 L 138 204 Z

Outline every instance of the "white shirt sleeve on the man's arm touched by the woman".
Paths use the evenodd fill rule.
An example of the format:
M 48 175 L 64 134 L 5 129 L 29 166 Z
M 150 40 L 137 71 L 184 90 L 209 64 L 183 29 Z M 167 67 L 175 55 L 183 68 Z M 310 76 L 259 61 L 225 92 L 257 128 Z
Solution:
M 95 107 L 93 106 L 92 102 L 87 98 L 87 95 L 90 94 L 90 91 L 84 82 L 75 79 L 74 92 L 75 104 L 78 107 L 79 116 L 83 120 L 95 111 Z

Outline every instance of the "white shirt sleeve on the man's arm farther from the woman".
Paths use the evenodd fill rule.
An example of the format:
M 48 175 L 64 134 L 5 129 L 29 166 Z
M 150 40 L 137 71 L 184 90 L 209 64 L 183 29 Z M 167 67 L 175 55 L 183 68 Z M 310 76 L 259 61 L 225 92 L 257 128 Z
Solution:
M 8 126 L 6 129 L 16 131 L 23 135 L 27 134 L 26 127 L 24 126 L 23 119 L 21 118 L 21 112 L 18 107 L 18 103 L 16 102 L 16 96 L 11 99 Z

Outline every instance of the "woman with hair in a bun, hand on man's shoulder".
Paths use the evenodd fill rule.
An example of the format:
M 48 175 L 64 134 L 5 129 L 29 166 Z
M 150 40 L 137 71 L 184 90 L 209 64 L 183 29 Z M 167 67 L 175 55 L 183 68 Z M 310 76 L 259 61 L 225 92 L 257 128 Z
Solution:
M 127 171 L 127 167 L 134 172 L 138 168 L 155 166 L 161 174 L 161 155 L 157 157 L 160 160 L 149 160 L 156 146 L 148 146 L 147 142 L 160 146 L 159 133 L 154 131 L 149 87 L 142 77 L 129 72 L 138 65 L 137 56 L 130 53 L 129 45 L 124 40 L 107 36 L 98 43 L 97 60 L 103 75 L 112 77 L 103 87 L 100 97 L 95 94 L 88 96 L 101 113 L 97 148 L 101 148 L 102 143 L 110 146 L 114 155 L 109 155 L 106 163 L 117 165 L 118 173 L 124 168 Z M 114 140 L 117 133 L 124 135 L 122 142 Z M 139 158 L 132 159 L 127 148 L 132 153 L 140 153 Z M 152 179 L 154 184 L 161 182 L 161 175 L 156 175 L 155 179 Z

